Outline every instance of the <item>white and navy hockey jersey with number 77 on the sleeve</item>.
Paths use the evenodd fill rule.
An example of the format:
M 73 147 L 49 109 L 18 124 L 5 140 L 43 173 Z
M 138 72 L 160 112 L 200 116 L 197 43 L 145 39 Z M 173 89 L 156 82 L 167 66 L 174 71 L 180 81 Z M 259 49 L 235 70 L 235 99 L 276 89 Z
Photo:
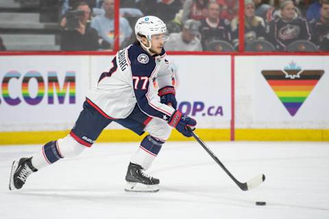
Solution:
M 173 73 L 162 49 L 160 55 L 149 55 L 140 44 L 118 51 L 110 70 L 99 77 L 97 86 L 88 91 L 88 102 L 95 104 L 109 118 L 126 118 L 136 103 L 151 117 L 168 120 L 175 111 L 160 103 L 158 88 L 172 86 Z

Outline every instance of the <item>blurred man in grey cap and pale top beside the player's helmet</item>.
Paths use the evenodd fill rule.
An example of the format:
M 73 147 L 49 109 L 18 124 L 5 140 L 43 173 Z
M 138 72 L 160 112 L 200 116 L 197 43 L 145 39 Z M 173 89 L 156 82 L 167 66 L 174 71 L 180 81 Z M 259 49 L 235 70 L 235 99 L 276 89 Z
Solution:
M 202 51 L 202 45 L 197 38 L 200 23 L 189 19 L 185 22 L 182 32 L 172 33 L 169 40 L 164 43 L 164 49 L 167 51 Z

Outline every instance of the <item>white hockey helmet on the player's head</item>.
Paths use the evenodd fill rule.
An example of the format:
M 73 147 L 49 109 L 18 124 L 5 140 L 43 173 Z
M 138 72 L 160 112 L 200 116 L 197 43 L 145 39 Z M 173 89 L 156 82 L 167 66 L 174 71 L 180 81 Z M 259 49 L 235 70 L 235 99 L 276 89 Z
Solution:
M 151 41 L 151 36 L 154 34 L 164 34 L 167 38 L 166 24 L 156 16 L 143 16 L 138 19 L 135 25 L 135 34 L 139 40 L 141 36 L 145 36 Z M 166 40 L 164 38 L 164 40 Z

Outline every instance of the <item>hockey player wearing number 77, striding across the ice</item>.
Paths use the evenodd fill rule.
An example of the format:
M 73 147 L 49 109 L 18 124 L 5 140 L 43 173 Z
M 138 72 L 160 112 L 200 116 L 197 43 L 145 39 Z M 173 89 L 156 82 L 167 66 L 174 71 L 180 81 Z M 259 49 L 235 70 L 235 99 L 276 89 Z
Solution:
M 145 170 L 151 166 L 173 127 L 191 137 L 186 127 L 194 127 L 196 121 L 175 110 L 173 73 L 162 47 L 167 38 L 166 25 L 156 16 L 145 16 L 136 22 L 135 34 L 137 41 L 117 52 L 112 66 L 101 73 L 97 86 L 89 90 L 84 109 L 69 135 L 48 142 L 32 157 L 12 163 L 10 190 L 21 189 L 32 172 L 64 157 L 80 155 L 112 122 L 138 135 L 149 133 L 128 165 L 125 191 L 159 190 L 159 179 L 147 175 Z M 158 92 L 154 81 L 158 82 Z

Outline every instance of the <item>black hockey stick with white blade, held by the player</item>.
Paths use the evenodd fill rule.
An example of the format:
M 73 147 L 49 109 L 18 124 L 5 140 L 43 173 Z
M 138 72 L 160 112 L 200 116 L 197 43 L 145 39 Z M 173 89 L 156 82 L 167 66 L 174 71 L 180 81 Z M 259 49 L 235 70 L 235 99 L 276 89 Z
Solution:
M 199 144 L 201 144 L 201 146 L 204 148 L 204 150 L 207 151 L 207 153 L 212 157 L 212 159 L 215 159 L 215 162 L 219 166 L 221 166 L 221 168 L 234 181 L 234 183 L 236 183 L 236 185 L 238 185 L 239 188 L 241 188 L 241 190 L 243 190 L 243 191 L 251 190 L 252 188 L 257 187 L 258 185 L 263 183 L 263 181 L 265 181 L 265 175 L 260 174 L 252 179 L 249 179 L 249 181 L 247 181 L 245 183 L 239 182 L 237 179 L 235 179 L 235 177 L 231 174 L 231 172 L 228 171 L 228 169 L 224 166 L 224 164 L 221 163 L 221 161 L 216 157 L 216 155 L 214 153 L 212 153 L 212 151 L 210 151 L 210 149 L 206 146 L 206 144 L 204 144 L 204 142 L 199 138 L 199 136 L 197 136 L 197 134 L 194 133 L 194 131 L 191 129 L 191 127 L 187 127 L 187 129 L 188 129 L 188 131 L 192 132 L 192 135 L 195 138 L 195 140 L 197 140 L 197 142 L 199 142 Z

